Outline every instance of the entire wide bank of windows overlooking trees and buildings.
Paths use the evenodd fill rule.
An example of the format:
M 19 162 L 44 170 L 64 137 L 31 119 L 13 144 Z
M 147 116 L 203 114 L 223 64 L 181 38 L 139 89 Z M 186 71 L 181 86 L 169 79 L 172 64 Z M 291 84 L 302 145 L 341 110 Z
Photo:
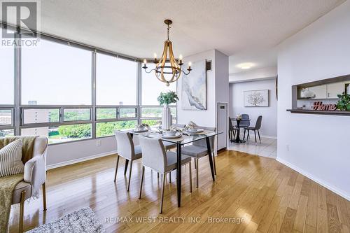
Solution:
M 176 83 L 167 87 L 130 59 L 46 38 L 36 48 L 0 46 L 0 137 L 40 135 L 50 144 L 66 143 L 160 124 L 157 97 L 176 91 Z M 170 107 L 176 122 L 176 105 Z

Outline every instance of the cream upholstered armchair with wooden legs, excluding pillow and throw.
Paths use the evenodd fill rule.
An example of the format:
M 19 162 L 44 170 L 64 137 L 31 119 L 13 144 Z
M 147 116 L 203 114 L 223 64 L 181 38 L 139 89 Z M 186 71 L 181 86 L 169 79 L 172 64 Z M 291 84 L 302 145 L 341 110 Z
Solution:
M 16 136 L 16 138 L 25 138 L 26 136 Z M 20 223 L 19 232 L 23 232 L 23 216 L 25 212 L 25 200 L 43 188 L 43 211 L 46 211 L 46 151 L 48 149 L 48 138 L 37 136 L 34 140 L 33 154 L 30 160 L 25 162 L 25 173 L 23 181 L 15 186 L 12 195 L 12 204 L 20 204 Z

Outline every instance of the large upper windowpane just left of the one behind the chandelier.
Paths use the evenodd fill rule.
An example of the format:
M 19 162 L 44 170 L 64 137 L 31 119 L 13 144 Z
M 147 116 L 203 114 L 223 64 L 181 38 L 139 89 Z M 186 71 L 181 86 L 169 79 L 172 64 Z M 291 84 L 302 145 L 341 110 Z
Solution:
M 96 95 L 97 105 L 136 105 L 137 62 L 98 53 Z

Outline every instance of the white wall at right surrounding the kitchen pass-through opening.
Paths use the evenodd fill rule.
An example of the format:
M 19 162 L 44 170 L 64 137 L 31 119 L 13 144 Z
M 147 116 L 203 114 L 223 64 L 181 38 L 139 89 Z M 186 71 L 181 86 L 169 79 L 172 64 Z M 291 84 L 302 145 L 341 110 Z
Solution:
M 278 73 L 277 160 L 350 200 L 350 118 L 286 112 L 292 85 L 350 73 L 350 1 L 284 41 Z

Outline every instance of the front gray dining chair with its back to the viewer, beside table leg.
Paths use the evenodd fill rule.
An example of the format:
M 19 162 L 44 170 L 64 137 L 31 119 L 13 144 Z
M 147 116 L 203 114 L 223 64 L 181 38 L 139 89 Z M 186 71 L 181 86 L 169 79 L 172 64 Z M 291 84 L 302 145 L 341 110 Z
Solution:
M 154 171 L 162 174 L 162 197 L 160 202 L 160 212 L 163 211 L 163 199 L 166 174 L 173 171 L 177 167 L 177 156 L 172 151 L 165 151 L 162 139 L 152 139 L 146 136 L 139 138 L 142 148 L 142 174 L 140 183 L 139 199 L 141 199 L 142 185 L 144 183 L 145 167 L 149 167 Z M 192 192 L 192 173 L 191 173 L 191 158 L 182 155 L 181 165 L 190 164 L 190 192 Z

